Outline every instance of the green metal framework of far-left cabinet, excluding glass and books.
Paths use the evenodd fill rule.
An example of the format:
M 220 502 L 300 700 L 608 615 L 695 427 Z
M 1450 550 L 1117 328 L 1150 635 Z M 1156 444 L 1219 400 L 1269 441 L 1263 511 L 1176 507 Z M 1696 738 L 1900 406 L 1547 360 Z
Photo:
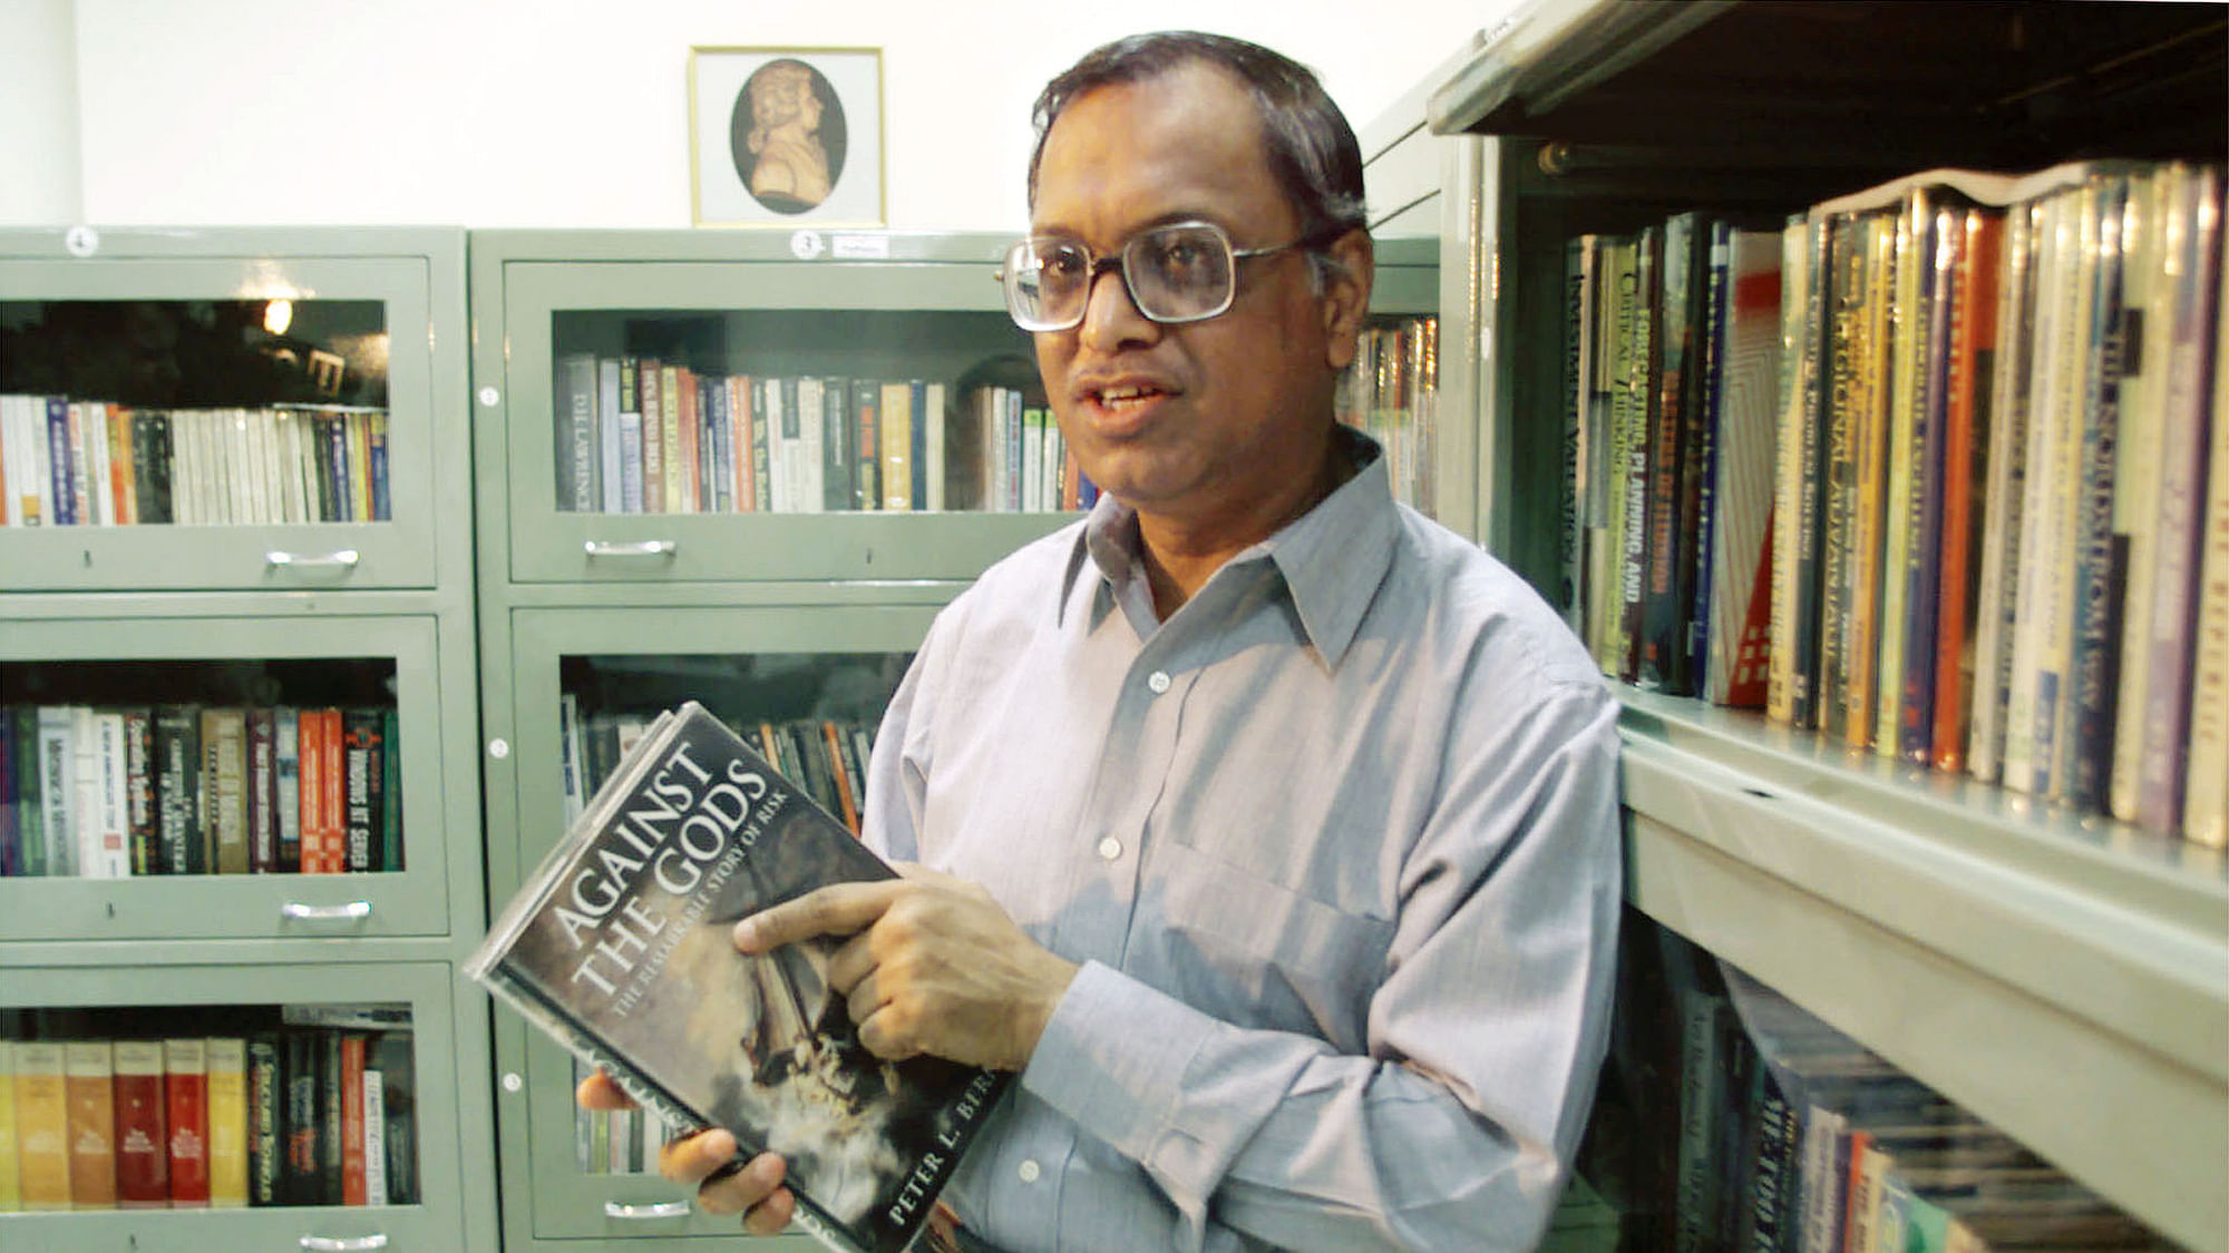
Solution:
M 377 359 L 345 368 L 386 379 L 392 522 L 0 526 L 0 669 L 65 700 L 78 667 L 187 691 L 370 671 L 403 796 L 395 872 L 0 878 L 0 1010 L 129 1008 L 158 1032 L 169 1006 L 408 1006 L 421 1179 L 392 1206 L 0 1213 L 0 1246 L 497 1249 L 486 999 L 457 974 L 486 923 L 464 294 L 461 230 L 0 230 L 11 328 L 74 301 L 377 308 Z

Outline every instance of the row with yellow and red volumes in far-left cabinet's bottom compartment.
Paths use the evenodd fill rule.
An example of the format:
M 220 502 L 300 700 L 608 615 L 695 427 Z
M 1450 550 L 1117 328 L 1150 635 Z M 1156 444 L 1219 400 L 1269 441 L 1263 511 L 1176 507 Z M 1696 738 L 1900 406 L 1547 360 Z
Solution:
M 410 1041 L 0 1039 L 0 1213 L 412 1204 Z

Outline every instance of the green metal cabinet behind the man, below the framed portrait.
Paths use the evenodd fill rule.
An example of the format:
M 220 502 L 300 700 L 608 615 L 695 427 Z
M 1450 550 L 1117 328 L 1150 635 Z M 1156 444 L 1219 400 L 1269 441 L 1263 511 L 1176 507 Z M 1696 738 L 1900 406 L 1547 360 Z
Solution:
M 981 386 L 1041 404 L 1030 341 L 994 281 L 1008 243 L 905 232 L 473 232 L 481 765 L 495 901 L 557 841 L 568 791 L 597 780 L 635 720 L 700 700 L 747 731 L 872 734 L 936 609 L 996 557 L 1074 517 L 981 508 L 981 484 L 965 470 L 979 448 Z M 1431 250 L 1406 256 L 1380 285 L 1378 308 L 1429 312 Z M 566 361 L 584 357 L 631 359 L 637 404 L 642 361 L 653 359 L 660 370 L 687 368 L 700 401 L 713 390 L 704 379 L 751 379 L 718 390 L 751 395 L 753 406 L 794 406 L 805 379 L 807 395 L 818 386 L 825 401 L 856 379 L 876 383 L 876 399 L 887 381 L 941 383 L 950 508 L 856 508 L 856 495 L 827 508 L 845 504 L 827 490 L 829 462 L 818 493 L 798 493 L 798 479 L 782 488 L 789 506 L 811 495 L 820 506 L 811 513 L 733 508 L 744 490 L 771 504 L 765 477 L 736 482 L 724 499 L 704 493 L 700 513 L 633 513 L 624 490 L 613 497 L 620 511 L 577 508 L 602 504 L 609 486 L 559 493 L 577 482 L 559 475 L 559 430 L 575 430 L 559 419 L 577 412 Z M 613 406 L 597 397 L 586 408 L 597 435 L 580 448 L 600 448 Z M 934 406 L 912 417 L 921 412 Z M 720 448 L 695 464 L 698 490 L 729 479 Z M 767 473 L 780 464 L 769 450 Z M 508 1014 L 495 1017 L 493 1039 L 508 1249 L 733 1240 L 733 1217 L 693 1211 L 655 1175 L 655 1150 L 631 1148 L 640 1128 L 575 1110 L 573 1061 L 555 1043 Z M 787 1240 L 805 1246 L 802 1235 Z

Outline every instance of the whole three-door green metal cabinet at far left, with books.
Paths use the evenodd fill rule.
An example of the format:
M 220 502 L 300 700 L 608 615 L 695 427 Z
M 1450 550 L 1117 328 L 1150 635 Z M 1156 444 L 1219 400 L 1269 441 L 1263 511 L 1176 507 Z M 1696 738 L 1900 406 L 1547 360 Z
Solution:
M 406 1173 L 386 1204 L 283 1175 L 245 1208 L 74 1191 L 0 1213 L 0 1246 L 497 1246 L 457 972 L 486 910 L 464 310 L 461 230 L 0 232 L 0 1037 L 383 1032 L 372 1139 Z M 310 858 L 283 838 L 305 791 Z

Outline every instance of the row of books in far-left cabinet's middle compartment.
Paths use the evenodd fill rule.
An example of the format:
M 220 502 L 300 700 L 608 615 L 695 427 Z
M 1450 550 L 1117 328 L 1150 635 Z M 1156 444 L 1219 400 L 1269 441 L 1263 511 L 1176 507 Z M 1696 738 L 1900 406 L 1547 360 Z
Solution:
M 395 709 L 0 705 L 0 876 L 403 867 Z

